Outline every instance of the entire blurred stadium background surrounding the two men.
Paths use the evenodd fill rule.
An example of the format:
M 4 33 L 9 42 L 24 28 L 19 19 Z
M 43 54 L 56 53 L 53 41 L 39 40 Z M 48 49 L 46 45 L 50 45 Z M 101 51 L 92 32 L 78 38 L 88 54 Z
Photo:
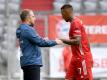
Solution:
M 107 0 L 0 0 L 0 80 L 23 80 L 20 49 L 15 31 L 20 11 L 32 9 L 40 36 L 68 38 L 69 25 L 60 14 L 62 5 L 73 6 L 84 23 L 94 57 L 94 80 L 107 80 Z M 72 57 L 69 46 L 42 48 L 41 80 L 64 80 Z

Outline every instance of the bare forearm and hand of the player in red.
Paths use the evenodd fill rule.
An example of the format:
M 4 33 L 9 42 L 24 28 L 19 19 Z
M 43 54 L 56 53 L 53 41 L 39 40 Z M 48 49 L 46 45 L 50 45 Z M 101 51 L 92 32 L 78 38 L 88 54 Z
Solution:
M 63 41 L 63 43 L 68 44 L 68 45 L 78 45 L 80 44 L 81 37 L 80 36 L 75 36 L 74 39 L 60 39 Z

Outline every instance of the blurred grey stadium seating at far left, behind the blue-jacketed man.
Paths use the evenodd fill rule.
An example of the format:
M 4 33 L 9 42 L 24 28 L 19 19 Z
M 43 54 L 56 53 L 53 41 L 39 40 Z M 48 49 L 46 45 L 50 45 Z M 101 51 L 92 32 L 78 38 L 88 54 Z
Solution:
M 16 76 L 16 37 L 20 0 L 0 0 L 0 80 L 19 79 Z M 11 65 L 9 65 L 12 63 Z M 13 73 L 13 74 L 12 74 Z

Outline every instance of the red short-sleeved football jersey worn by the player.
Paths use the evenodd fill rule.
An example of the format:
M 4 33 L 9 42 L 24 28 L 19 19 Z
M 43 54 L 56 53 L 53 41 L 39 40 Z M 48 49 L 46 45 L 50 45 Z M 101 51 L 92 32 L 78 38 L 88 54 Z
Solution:
M 81 45 L 72 45 L 72 58 L 82 58 L 84 57 L 87 63 L 87 66 L 92 67 L 92 54 L 90 50 L 90 45 L 88 42 L 88 38 L 85 32 L 84 25 L 82 21 L 75 17 L 74 20 L 71 22 L 69 37 L 73 39 L 75 36 L 81 37 Z

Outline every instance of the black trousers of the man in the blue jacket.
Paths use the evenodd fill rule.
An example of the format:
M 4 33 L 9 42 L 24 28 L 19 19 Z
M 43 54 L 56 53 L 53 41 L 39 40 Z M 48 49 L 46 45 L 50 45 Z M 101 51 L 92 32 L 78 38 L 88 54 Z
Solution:
M 40 80 L 40 66 L 29 65 L 22 67 L 23 80 Z

